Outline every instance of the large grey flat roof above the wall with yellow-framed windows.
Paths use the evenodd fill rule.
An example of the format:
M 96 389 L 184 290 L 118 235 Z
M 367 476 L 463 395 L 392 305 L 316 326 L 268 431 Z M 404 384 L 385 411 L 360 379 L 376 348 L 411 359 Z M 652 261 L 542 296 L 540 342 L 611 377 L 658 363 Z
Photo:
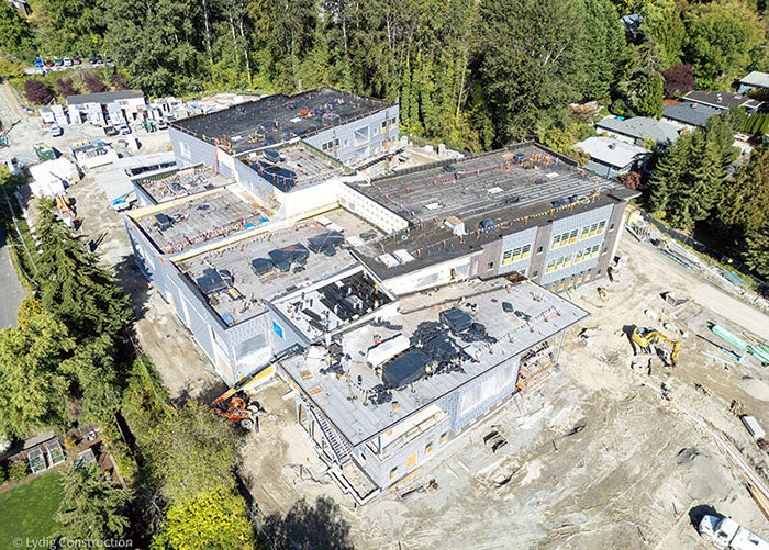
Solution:
M 515 161 L 517 154 L 523 159 Z M 478 245 L 499 238 L 500 233 L 544 225 L 638 195 L 534 142 L 403 170 L 375 179 L 370 186 L 346 184 L 410 224 L 398 235 L 355 249 L 369 269 L 386 279 L 478 251 Z M 455 235 L 444 224 L 448 217 L 462 222 L 467 236 Z M 495 224 L 494 231 L 478 232 L 486 220 Z M 383 252 L 400 249 L 415 259 L 390 268 L 377 260 Z

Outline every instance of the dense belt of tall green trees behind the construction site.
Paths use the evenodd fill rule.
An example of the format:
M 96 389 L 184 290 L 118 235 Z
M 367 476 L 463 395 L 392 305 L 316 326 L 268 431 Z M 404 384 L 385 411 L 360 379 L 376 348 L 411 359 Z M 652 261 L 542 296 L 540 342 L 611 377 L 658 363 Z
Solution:
M 659 117 L 666 98 L 692 89 L 731 90 L 748 71 L 769 69 L 765 0 L 29 0 L 29 5 L 26 18 L 10 3 L 0 5 L 0 75 L 18 74 L 36 56 L 101 54 L 116 68 L 51 86 L 27 80 L 34 88 L 27 97 L 51 100 L 55 92 L 103 87 L 183 97 L 330 85 L 399 101 L 403 133 L 472 153 L 537 138 L 573 154 L 572 145 L 594 133 L 595 114 Z M 629 14 L 639 16 L 623 20 Z M 591 101 L 598 110 L 587 117 L 569 109 Z M 766 115 L 739 124 L 735 131 L 758 133 Z M 657 158 L 662 162 L 676 153 L 692 165 L 692 150 L 682 145 Z M 760 231 L 766 233 L 767 216 L 749 228 L 725 225 L 734 216 L 715 206 L 733 181 L 726 165 L 711 170 L 712 192 L 683 207 L 684 215 L 676 213 L 680 201 L 666 199 L 677 192 L 675 182 L 660 186 L 657 178 L 645 197 L 667 222 L 717 233 L 727 254 L 746 260 L 748 242 L 766 242 Z M 766 268 L 757 271 L 767 276 Z

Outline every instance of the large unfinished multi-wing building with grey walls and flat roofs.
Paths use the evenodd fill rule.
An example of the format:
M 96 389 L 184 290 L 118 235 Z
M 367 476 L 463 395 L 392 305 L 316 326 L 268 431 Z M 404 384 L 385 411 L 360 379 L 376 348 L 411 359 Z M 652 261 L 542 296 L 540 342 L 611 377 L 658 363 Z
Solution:
M 557 291 L 605 274 L 635 195 L 533 142 L 370 179 L 290 139 L 225 170 L 198 119 L 177 130 L 189 168 L 144 182 L 153 204 L 125 218 L 137 263 L 224 380 L 289 383 L 360 502 L 547 377 L 587 316 Z

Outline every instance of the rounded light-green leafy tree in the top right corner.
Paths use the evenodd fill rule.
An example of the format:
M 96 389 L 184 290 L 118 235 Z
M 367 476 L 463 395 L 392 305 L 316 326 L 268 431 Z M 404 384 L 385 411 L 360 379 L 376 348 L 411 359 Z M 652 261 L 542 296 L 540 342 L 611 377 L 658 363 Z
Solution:
M 687 58 L 698 86 L 714 89 L 745 74 L 766 34 L 765 23 L 740 0 L 696 3 L 684 12 Z

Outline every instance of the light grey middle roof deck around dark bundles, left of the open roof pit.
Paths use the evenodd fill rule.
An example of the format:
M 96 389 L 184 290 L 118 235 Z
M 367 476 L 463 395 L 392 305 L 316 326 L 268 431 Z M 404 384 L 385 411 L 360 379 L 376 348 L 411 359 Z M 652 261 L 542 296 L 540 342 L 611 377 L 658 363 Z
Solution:
M 320 216 L 319 216 L 320 217 Z M 357 235 L 374 227 L 366 221 L 343 209 L 323 214 L 325 221 L 337 224 L 345 231 L 345 236 Z M 256 276 L 250 269 L 252 260 L 267 258 L 270 250 L 301 243 L 308 246 L 308 239 L 328 232 L 309 218 L 279 231 L 265 232 L 257 236 L 239 240 L 229 246 L 210 250 L 177 262 L 179 269 L 190 276 L 193 283 L 207 269 L 226 269 L 235 278 L 234 288 L 243 296 L 231 299 L 225 292 L 209 296 L 209 304 L 220 315 L 227 315 L 232 324 L 241 323 L 266 310 L 266 303 L 278 294 L 325 279 L 334 273 L 350 269 L 357 261 L 347 250 L 339 249 L 335 256 L 310 252 L 304 270 L 280 272 L 274 269 L 269 273 Z M 325 223 L 324 221 L 324 223 Z M 212 300 L 213 299 L 213 300 Z M 224 318 L 224 317 L 223 317 Z

